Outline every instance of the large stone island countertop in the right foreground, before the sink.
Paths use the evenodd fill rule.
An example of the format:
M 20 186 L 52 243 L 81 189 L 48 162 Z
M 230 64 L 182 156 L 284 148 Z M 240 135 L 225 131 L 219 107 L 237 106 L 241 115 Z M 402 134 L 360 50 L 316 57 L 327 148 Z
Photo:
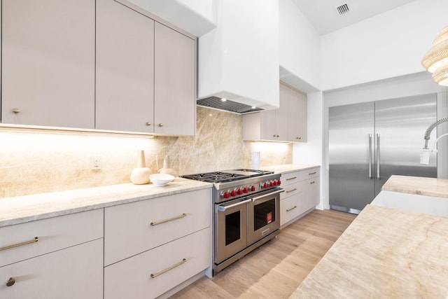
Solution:
M 367 205 L 290 298 L 448 298 L 448 218 Z

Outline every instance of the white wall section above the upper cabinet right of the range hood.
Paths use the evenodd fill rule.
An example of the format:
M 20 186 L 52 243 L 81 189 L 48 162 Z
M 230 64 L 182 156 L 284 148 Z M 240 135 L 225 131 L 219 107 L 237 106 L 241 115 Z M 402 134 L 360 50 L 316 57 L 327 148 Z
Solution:
M 303 92 L 321 86 L 321 36 L 291 0 L 279 1 L 280 79 Z

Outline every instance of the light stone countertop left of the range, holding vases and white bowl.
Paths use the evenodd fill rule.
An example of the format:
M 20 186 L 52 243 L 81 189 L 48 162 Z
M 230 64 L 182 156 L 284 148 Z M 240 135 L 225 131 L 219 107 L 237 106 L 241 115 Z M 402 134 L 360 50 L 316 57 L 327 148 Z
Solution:
M 166 186 L 153 183 L 85 188 L 0 199 L 0 228 L 118 204 L 211 188 L 211 183 L 176 178 Z

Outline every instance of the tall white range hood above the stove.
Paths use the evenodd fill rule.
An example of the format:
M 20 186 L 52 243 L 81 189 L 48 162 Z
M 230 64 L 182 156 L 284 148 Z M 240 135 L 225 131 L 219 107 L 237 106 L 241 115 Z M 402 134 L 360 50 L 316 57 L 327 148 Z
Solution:
M 225 98 L 247 106 L 237 113 L 278 108 L 278 1 L 216 0 L 216 28 L 198 41 L 197 76 L 202 106 L 232 111 L 214 104 Z

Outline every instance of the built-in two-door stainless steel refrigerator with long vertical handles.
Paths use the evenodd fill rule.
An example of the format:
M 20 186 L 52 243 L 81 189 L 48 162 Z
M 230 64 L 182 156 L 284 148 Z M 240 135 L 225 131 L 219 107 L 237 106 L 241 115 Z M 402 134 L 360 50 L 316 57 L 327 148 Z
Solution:
M 330 209 L 359 214 L 392 174 L 437 177 L 436 158 L 419 158 L 436 117 L 436 95 L 330 107 Z

